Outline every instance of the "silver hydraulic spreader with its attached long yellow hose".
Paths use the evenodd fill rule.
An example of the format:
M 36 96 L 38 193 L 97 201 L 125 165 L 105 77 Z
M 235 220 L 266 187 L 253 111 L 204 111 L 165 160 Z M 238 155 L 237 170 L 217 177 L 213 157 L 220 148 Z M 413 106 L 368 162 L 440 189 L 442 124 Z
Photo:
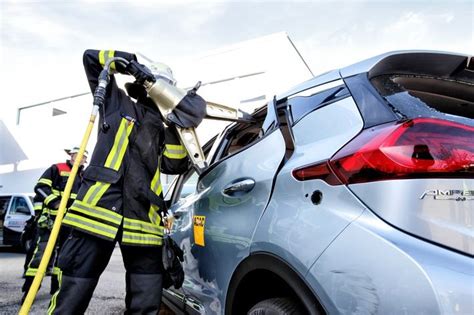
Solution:
M 59 205 L 58 213 L 56 215 L 56 219 L 53 224 L 53 228 L 51 230 L 51 235 L 49 237 L 48 244 L 46 245 L 46 249 L 44 255 L 41 259 L 40 265 L 38 267 L 38 271 L 35 275 L 33 283 L 28 291 L 28 294 L 21 306 L 19 314 L 26 315 L 28 314 L 31 305 L 34 302 L 35 296 L 38 292 L 38 289 L 41 285 L 41 281 L 46 273 L 46 268 L 48 266 L 49 260 L 51 258 L 51 254 L 53 252 L 54 246 L 56 244 L 56 240 L 58 238 L 59 229 L 61 227 L 61 222 L 63 220 L 64 214 L 66 212 L 66 205 L 71 194 L 71 189 L 74 183 L 74 179 L 77 175 L 77 171 L 79 169 L 80 161 L 84 155 L 85 148 L 89 141 L 90 134 L 92 132 L 92 128 L 94 127 L 94 123 L 99 113 L 99 109 L 102 108 L 104 110 L 105 106 L 105 96 L 107 91 L 107 85 L 109 84 L 109 75 L 110 75 L 110 66 L 113 62 L 121 63 L 125 67 L 129 64 L 129 61 L 120 58 L 120 57 L 113 57 L 107 60 L 104 65 L 103 70 L 99 74 L 99 84 L 94 91 L 94 100 L 93 100 L 93 107 L 92 112 L 89 118 L 89 123 L 87 125 L 85 134 L 83 136 L 81 146 L 74 162 L 74 166 L 71 170 L 69 179 L 66 184 L 66 188 L 64 189 L 64 194 L 62 195 L 61 202 Z M 194 128 L 181 128 L 174 124 L 171 126 L 171 123 L 174 120 L 174 113 L 173 110 L 180 104 L 181 101 L 186 97 L 188 94 L 196 93 L 197 89 L 200 86 L 200 82 L 191 90 L 185 91 L 183 89 L 178 88 L 174 82 L 160 79 L 156 79 L 155 82 L 145 81 L 142 82 L 145 90 L 148 93 L 148 96 L 153 100 L 153 102 L 158 107 L 159 111 L 161 112 L 165 123 L 169 127 L 176 128 L 176 131 L 180 137 L 180 140 L 184 147 L 186 148 L 188 155 L 196 168 L 197 172 L 201 172 L 204 168 L 207 167 L 207 163 L 204 157 L 204 153 L 202 151 L 201 145 L 196 135 L 196 131 Z M 253 118 L 240 110 L 234 109 L 232 107 L 228 107 L 225 105 L 206 102 L 206 118 L 209 119 L 217 119 L 217 120 L 226 120 L 226 121 L 240 121 L 240 122 L 247 122 L 252 123 L 254 120 Z M 103 119 L 102 126 L 100 126 L 103 132 L 107 132 L 110 126 L 107 124 L 105 117 Z

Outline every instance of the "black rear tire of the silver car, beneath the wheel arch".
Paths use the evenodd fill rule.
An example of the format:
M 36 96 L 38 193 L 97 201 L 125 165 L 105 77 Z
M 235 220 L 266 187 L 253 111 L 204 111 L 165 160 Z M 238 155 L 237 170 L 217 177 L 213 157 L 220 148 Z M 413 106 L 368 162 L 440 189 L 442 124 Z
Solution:
M 271 298 L 255 304 L 248 315 L 300 315 L 307 312 L 292 299 Z

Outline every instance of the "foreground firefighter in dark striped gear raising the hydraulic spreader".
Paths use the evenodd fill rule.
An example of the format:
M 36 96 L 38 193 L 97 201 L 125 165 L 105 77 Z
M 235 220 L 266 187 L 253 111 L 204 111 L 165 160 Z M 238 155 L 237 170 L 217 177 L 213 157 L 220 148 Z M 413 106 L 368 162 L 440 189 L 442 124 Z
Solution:
M 87 50 L 83 61 L 92 91 L 111 57 L 131 61 L 127 67 L 115 63 L 111 68 L 134 75 L 136 82 L 167 79 L 154 77 L 136 62 L 134 54 Z M 51 299 L 50 314 L 86 311 L 116 242 L 126 269 L 125 313 L 156 314 L 159 310 L 163 271 L 161 217 L 165 211 L 160 174 L 182 173 L 189 160 L 175 131 L 165 127 L 143 87 L 128 84 L 126 88 L 128 95 L 110 76 L 106 101 L 99 111 L 102 128 L 90 165 L 77 199 L 63 220 L 72 232 L 59 256 L 60 289 Z M 195 107 L 179 108 L 192 117 L 187 127 L 197 126 L 205 115 L 204 100 L 198 95 L 192 97 Z

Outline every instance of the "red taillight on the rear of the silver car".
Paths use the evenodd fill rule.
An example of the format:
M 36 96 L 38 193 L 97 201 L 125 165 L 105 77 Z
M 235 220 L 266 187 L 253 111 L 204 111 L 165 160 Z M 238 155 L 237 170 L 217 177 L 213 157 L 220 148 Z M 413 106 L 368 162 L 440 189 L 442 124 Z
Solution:
M 474 128 L 432 118 L 382 125 L 361 132 L 330 161 L 293 171 L 298 180 L 319 178 L 337 184 L 331 173 L 343 184 L 474 178 Z

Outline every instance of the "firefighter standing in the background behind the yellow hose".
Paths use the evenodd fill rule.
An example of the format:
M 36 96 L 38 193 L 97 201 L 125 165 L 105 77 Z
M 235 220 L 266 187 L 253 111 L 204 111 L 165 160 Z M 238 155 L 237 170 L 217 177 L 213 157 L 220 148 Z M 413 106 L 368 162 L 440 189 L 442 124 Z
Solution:
M 61 202 L 61 197 L 64 189 L 66 188 L 66 183 L 69 178 L 69 173 L 71 172 L 74 161 L 76 160 L 77 153 L 79 152 L 78 147 L 72 149 L 64 150 L 70 157 L 65 163 L 57 163 L 51 165 L 44 173 L 41 175 L 38 183 L 36 184 L 34 191 L 34 208 L 35 208 L 35 224 L 32 229 L 36 230 L 35 235 L 35 246 L 33 252 L 27 254 L 26 263 L 26 272 L 25 272 L 25 282 L 22 287 L 23 298 L 22 301 L 26 298 L 28 290 L 33 283 L 33 279 L 38 271 L 41 258 L 43 257 L 44 250 L 48 243 L 49 235 L 53 227 L 54 220 L 59 208 L 59 203 Z M 86 153 L 87 154 L 87 153 Z M 68 204 L 72 204 L 72 201 L 76 197 L 76 193 L 79 190 L 80 182 L 82 179 L 82 169 L 83 165 L 86 162 L 87 156 L 84 155 L 81 161 L 81 166 L 78 170 L 78 176 L 76 177 Z M 62 231 L 61 235 L 64 235 L 65 232 Z M 58 274 L 59 269 L 55 264 L 55 257 L 60 250 L 61 243 L 64 241 L 64 237 L 59 238 L 59 242 L 55 248 L 55 254 L 50 259 L 48 266 L 48 274 L 51 274 L 51 289 L 50 294 L 53 294 L 58 289 Z

